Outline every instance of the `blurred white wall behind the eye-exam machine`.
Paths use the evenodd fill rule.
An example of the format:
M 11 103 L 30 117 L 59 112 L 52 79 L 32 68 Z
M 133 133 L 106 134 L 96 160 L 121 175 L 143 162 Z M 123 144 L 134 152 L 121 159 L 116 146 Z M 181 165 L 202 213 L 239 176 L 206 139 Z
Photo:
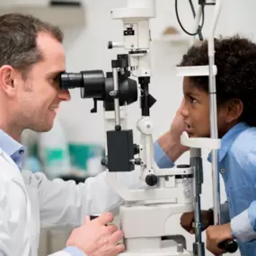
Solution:
M 195 4 L 198 1 L 194 1 Z M 250 36 L 253 40 L 256 35 L 256 1 L 253 0 L 225 0 L 220 20 L 217 26 L 217 34 L 232 35 L 236 32 Z M 152 22 L 153 39 L 158 39 L 162 31 L 168 25 L 179 28 L 174 14 L 174 1 L 156 0 L 157 18 Z M 111 57 L 115 57 L 115 50 L 107 49 L 109 40 L 122 40 L 122 23 L 111 21 L 110 10 L 126 6 L 124 0 L 87 0 L 85 2 L 86 24 L 76 29 L 65 29 L 66 62 L 68 71 L 80 71 L 88 69 L 102 69 L 110 71 Z M 186 0 L 179 0 L 181 21 L 191 30 L 192 14 L 190 5 Z M 206 22 L 203 34 L 207 35 L 207 29 L 211 18 L 211 8 L 207 8 Z M 153 77 L 150 91 L 157 99 L 157 103 L 151 110 L 154 121 L 154 137 L 159 137 L 170 127 L 171 120 L 181 102 L 181 79 L 175 77 L 173 66 L 181 60 L 182 54 L 187 49 L 186 45 L 173 46 L 170 42 L 154 41 L 152 49 Z M 104 129 L 102 111 L 99 114 L 91 114 L 92 100 L 80 99 L 78 90 L 72 93 L 72 101 L 62 105 L 59 112 L 61 121 L 69 132 L 68 139 L 73 142 L 98 142 L 103 143 Z M 139 118 L 138 104 L 129 107 L 130 124 L 134 127 Z M 138 139 L 138 134 L 135 135 Z M 138 140 L 137 140 L 138 141 Z M 206 154 L 205 154 L 206 155 Z M 188 162 L 188 155 L 182 157 L 182 162 Z M 206 161 L 205 182 L 203 185 L 202 207 L 212 205 L 212 180 L 210 165 Z M 222 186 L 223 190 L 223 186 Z M 222 192 L 223 199 L 225 194 Z M 172 234 L 184 234 L 188 238 L 189 249 L 193 242 L 193 236 L 186 234 L 179 225 L 179 216 L 170 220 Z M 209 254 L 207 254 L 209 255 Z M 236 255 L 239 255 L 238 253 Z

